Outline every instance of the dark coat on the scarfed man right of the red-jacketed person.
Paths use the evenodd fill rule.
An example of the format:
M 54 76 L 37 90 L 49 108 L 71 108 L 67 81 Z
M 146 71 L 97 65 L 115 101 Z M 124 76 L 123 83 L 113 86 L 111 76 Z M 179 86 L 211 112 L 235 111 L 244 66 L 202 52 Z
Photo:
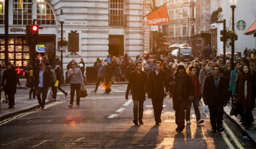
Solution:
M 204 101 L 207 100 L 209 105 L 218 104 L 224 106 L 224 103 L 229 100 L 228 87 L 225 77 L 220 76 L 220 82 L 216 89 L 214 76 L 207 76 L 203 89 Z

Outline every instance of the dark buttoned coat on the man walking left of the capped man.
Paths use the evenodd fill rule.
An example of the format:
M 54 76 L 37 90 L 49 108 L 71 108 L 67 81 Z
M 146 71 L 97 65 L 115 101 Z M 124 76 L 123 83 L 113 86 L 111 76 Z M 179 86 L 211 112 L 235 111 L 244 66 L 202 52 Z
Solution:
M 151 98 L 164 98 L 164 87 L 166 87 L 166 92 L 168 92 L 169 82 L 167 81 L 165 71 L 160 70 L 158 74 L 156 71 L 151 71 L 149 74 L 149 83 L 151 90 Z

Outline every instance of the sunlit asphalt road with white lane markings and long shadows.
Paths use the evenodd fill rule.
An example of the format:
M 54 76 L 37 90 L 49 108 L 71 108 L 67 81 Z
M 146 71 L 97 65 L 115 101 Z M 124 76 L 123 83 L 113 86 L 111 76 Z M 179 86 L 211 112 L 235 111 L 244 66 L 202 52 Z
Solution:
M 95 86 L 85 86 L 89 91 Z M 144 102 L 144 125 L 134 126 L 132 100 L 125 99 L 127 85 L 112 85 L 110 95 L 99 87 L 96 95 L 81 98 L 80 108 L 70 109 L 69 98 L 0 120 L 0 149 L 255 149 L 240 129 L 224 116 L 223 133 L 210 133 L 209 114 L 203 110 L 196 124 L 191 109 L 191 125 L 176 132 L 172 98 L 164 100 L 162 124 L 155 125 L 150 99 Z M 69 86 L 63 87 L 69 91 Z M 27 96 L 28 90 L 18 89 Z M 131 95 L 129 95 L 131 98 Z M 75 105 L 75 102 L 74 102 Z M 3 124 L 4 123 L 4 124 Z

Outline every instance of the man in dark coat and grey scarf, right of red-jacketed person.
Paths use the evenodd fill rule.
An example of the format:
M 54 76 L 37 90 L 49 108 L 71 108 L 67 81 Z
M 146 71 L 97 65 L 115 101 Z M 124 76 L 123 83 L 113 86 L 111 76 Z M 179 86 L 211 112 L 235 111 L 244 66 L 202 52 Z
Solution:
M 220 69 L 219 65 L 213 66 L 213 73 L 206 77 L 203 89 L 204 103 L 210 111 L 211 133 L 221 133 L 225 130 L 222 127 L 223 108 L 227 105 L 229 97 L 226 79 L 221 76 Z

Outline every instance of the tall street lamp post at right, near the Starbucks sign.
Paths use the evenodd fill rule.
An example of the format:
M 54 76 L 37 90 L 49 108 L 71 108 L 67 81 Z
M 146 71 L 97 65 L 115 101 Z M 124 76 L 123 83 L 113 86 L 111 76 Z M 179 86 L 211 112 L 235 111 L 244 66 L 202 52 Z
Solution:
M 235 31 L 235 8 L 238 0 L 229 0 L 230 7 L 232 8 L 232 30 Z M 235 55 L 235 41 L 234 38 L 231 38 L 231 62 L 232 62 L 232 70 L 235 69 L 234 65 L 234 55 Z

